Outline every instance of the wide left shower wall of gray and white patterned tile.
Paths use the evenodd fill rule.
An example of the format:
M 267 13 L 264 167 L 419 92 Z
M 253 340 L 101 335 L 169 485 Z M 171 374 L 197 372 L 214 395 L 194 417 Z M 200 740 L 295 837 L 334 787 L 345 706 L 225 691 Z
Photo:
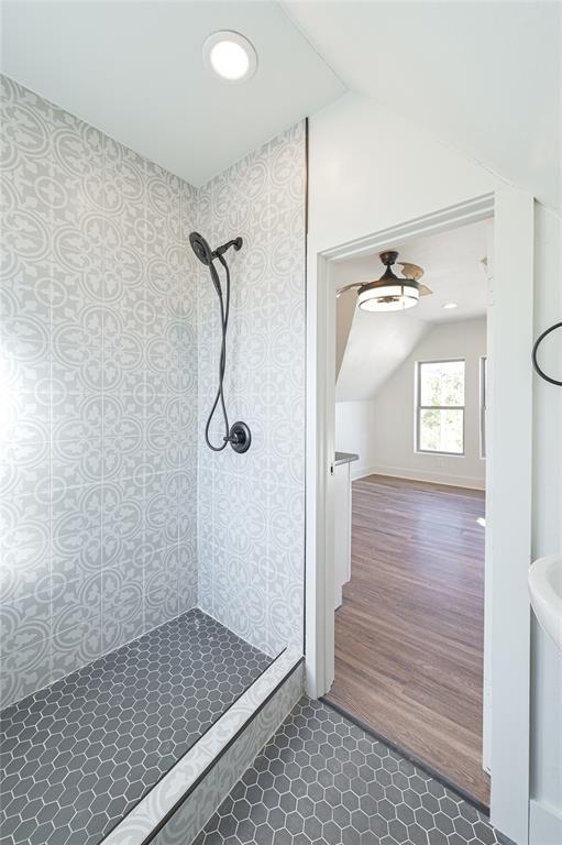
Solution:
M 1 79 L 2 703 L 196 603 L 197 191 Z

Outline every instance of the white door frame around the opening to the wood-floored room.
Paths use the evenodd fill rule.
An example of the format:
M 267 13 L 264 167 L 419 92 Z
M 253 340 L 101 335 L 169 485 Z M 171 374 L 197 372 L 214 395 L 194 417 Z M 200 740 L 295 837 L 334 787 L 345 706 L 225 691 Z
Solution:
M 328 250 L 317 251 L 309 242 L 307 260 L 306 674 L 308 694 L 317 698 L 328 692 L 334 671 L 331 267 L 398 240 L 494 217 L 487 309 L 485 619 L 485 689 L 493 689 L 494 695 L 485 696 L 483 718 L 493 772 L 491 820 L 517 845 L 528 845 L 529 826 L 533 212 L 531 196 L 505 185 Z

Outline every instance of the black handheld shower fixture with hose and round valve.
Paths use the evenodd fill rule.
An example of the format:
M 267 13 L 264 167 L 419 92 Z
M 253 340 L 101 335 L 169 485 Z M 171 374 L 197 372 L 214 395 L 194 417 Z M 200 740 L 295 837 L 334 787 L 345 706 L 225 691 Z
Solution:
M 227 443 L 230 443 L 235 452 L 247 452 L 250 449 L 250 443 L 252 442 L 250 428 L 245 422 L 241 421 L 233 422 L 232 426 L 229 426 L 229 416 L 227 414 L 223 393 L 224 371 L 227 369 L 227 329 L 229 328 L 230 311 L 230 270 L 225 259 L 223 257 L 223 254 L 230 250 L 231 246 L 233 246 L 238 252 L 238 250 L 240 250 L 242 246 L 242 238 L 234 238 L 232 241 L 228 241 L 227 243 L 223 243 L 222 246 L 218 246 L 214 251 L 212 251 L 205 238 L 199 234 L 199 232 L 191 232 L 189 235 L 189 243 L 191 244 L 191 249 L 194 250 L 201 264 L 205 264 L 206 267 L 209 267 L 212 284 L 214 285 L 217 296 L 219 297 L 221 318 L 222 338 L 219 359 L 219 386 L 217 388 L 214 402 L 212 403 L 211 411 L 207 419 L 207 425 L 205 426 L 205 440 L 209 449 L 212 449 L 213 452 L 221 452 L 227 447 Z M 224 294 L 222 292 L 219 273 L 213 264 L 216 259 L 218 259 L 224 267 L 227 281 L 227 289 Z M 224 419 L 224 437 L 222 438 L 221 446 L 213 446 L 209 440 L 209 427 L 219 403 L 222 410 L 222 417 Z

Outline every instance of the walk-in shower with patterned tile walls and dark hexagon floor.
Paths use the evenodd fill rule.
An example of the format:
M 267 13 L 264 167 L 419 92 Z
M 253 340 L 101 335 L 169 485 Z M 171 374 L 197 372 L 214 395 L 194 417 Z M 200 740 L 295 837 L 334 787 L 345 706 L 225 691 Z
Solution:
M 7 77 L 0 118 L 0 842 L 96 845 L 302 652 L 305 125 L 196 188 Z M 244 242 L 225 394 L 245 454 L 202 437 L 220 334 L 194 230 Z M 123 736 L 158 764 L 110 772 L 97 815 Z

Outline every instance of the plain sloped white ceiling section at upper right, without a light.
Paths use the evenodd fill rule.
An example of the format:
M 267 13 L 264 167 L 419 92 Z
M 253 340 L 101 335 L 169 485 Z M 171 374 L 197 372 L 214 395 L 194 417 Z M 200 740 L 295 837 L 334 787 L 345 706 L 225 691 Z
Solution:
M 285 8 L 350 89 L 560 208 L 561 3 Z

